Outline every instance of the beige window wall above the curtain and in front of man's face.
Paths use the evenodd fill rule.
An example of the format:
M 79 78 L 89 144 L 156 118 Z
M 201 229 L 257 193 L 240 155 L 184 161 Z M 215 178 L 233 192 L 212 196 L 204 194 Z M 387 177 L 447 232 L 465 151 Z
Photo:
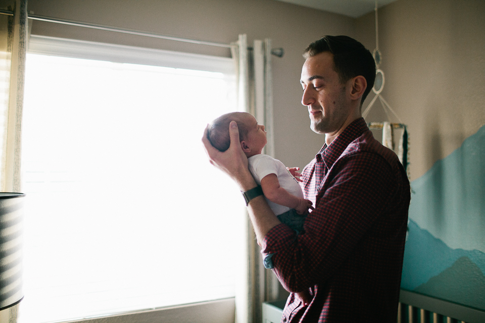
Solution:
M 95 24 L 230 43 L 246 33 L 248 41 L 271 38 L 283 47 L 273 57 L 275 155 L 286 165 L 303 167 L 323 144 L 310 128 L 299 84 L 303 49 L 325 34 L 354 34 L 354 19 L 273 0 L 29 0 L 29 12 Z M 228 49 L 86 30 L 33 21 L 32 34 L 106 41 L 178 51 L 229 56 Z M 197 109 L 197 102 L 181 102 Z M 305 143 L 305 144 L 303 144 Z

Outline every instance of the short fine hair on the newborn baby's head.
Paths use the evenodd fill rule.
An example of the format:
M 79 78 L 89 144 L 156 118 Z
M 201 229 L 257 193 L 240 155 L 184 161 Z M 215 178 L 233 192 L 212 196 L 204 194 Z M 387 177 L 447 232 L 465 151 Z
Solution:
M 248 135 L 248 128 L 243 121 L 243 116 L 246 112 L 231 112 L 220 116 L 209 125 L 209 131 L 207 138 L 211 144 L 219 151 L 226 151 L 230 144 L 231 139 L 229 137 L 229 124 L 231 121 L 237 123 L 237 129 L 239 129 L 239 142 L 246 139 Z

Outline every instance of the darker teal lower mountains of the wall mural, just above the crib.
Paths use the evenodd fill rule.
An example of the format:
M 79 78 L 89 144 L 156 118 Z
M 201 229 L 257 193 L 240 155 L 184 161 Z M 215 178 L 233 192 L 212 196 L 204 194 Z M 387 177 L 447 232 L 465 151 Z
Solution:
M 452 249 L 412 220 L 401 288 L 485 310 L 485 253 Z

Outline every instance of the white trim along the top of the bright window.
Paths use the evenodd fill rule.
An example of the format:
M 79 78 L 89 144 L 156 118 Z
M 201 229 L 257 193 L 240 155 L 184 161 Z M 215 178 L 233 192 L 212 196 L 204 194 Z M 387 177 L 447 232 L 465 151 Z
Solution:
M 194 53 L 30 35 L 28 52 L 87 60 L 234 74 L 232 59 Z

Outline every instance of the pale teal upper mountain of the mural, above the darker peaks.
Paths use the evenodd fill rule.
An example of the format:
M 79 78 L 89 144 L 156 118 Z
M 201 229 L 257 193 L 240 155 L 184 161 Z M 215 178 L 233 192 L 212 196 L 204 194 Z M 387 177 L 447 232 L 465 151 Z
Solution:
M 485 252 L 485 126 L 411 183 L 409 218 L 454 249 Z

